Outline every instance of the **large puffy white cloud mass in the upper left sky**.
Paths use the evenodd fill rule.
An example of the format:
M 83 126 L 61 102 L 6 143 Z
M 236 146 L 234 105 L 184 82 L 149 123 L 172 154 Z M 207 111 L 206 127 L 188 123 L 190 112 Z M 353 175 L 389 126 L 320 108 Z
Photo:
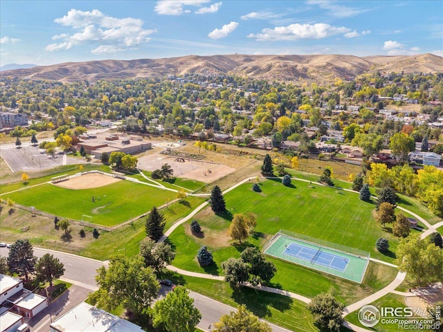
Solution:
M 52 39 L 60 39 L 61 42 L 46 46 L 45 50 L 48 52 L 69 50 L 73 46 L 82 44 L 95 44 L 97 47 L 91 50 L 94 54 L 116 53 L 145 44 L 150 41 L 147 36 L 156 33 L 156 30 L 143 29 L 141 19 L 132 17 L 117 19 L 96 9 L 90 12 L 71 9 L 67 15 L 54 21 L 73 28 L 75 33 L 54 35 Z

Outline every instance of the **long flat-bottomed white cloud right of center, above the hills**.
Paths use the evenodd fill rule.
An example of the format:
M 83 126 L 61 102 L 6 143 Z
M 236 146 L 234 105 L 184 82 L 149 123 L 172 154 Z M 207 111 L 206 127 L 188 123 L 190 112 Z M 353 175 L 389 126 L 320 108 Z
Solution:
M 296 39 L 322 39 L 334 35 L 350 33 L 349 28 L 336 27 L 329 24 L 290 24 L 289 26 L 276 26 L 273 29 L 264 28 L 262 33 L 248 35 L 257 41 L 278 42 Z

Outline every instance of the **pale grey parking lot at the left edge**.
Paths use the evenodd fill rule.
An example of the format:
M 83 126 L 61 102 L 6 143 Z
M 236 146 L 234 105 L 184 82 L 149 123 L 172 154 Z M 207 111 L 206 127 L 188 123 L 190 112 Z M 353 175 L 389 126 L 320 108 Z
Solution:
M 46 169 L 63 165 L 63 155 L 48 156 L 41 154 L 38 147 L 28 146 L 17 149 L 15 147 L 2 149 L 0 156 L 8 163 L 12 172 Z M 66 158 L 66 157 L 65 157 Z

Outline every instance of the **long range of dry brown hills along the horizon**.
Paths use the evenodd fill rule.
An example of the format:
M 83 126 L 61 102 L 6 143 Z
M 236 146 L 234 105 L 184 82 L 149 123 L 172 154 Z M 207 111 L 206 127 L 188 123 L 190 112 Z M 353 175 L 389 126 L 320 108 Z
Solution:
M 443 58 L 422 54 L 410 56 L 354 55 L 188 55 L 163 59 L 102 60 L 67 62 L 2 72 L 31 80 L 75 82 L 136 77 L 165 77 L 199 73 L 247 76 L 284 82 L 330 83 L 352 80 L 363 73 L 442 73 Z

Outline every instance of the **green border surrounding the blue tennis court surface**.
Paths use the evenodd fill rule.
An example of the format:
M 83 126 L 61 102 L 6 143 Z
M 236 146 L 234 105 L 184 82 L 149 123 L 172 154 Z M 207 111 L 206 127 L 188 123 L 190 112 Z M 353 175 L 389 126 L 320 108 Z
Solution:
M 264 245 L 263 252 L 266 255 L 283 259 L 284 261 L 290 261 L 291 263 L 301 266 L 306 266 L 307 268 L 329 273 L 329 275 L 335 275 L 336 277 L 341 277 L 359 284 L 363 282 L 363 277 L 365 276 L 365 272 L 370 261 L 369 252 L 364 252 L 363 250 L 354 248 L 347 248 L 345 246 L 337 245 L 336 243 L 328 243 L 327 241 L 314 239 L 312 237 L 307 237 L 306 235 L 296 233 L 289 235 L 284 233 L 291 232 L 280 230 Z M 349 259 L 349 261 L 345 270 L 341 272 L 329 266 L 316 264 L 315 261 L 314 263 L 311 263 L 310 259 L 302 259 L 292 255 L 284 255 L 284 250 L 291 243 L 298 243 L 301 246 L 314 250 L 321 248 L 323 252 Z

